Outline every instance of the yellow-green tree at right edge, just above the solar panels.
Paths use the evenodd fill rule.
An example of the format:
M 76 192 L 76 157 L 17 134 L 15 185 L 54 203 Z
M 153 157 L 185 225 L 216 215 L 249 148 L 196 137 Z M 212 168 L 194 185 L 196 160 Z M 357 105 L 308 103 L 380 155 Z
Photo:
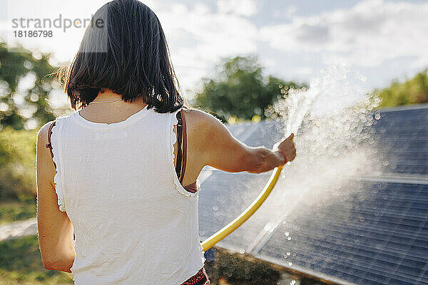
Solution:
M 375 95 L 382 98 L 379 107 L 428 103 L 427 73 L 428 69 L 425 69 L 403 83 L 394 81 L 387 88 L 374 90 Z

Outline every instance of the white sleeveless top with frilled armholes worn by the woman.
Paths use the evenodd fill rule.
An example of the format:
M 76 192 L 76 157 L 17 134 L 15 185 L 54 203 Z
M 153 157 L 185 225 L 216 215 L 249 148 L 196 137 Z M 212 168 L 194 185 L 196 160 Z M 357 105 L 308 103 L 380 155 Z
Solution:
M 173 163 L 174 113 L 147 106 L 119 123 L 56 118 L 58 206 L 74 227 L 75 284 L 176 285 L 204 266 L 198 194 Z

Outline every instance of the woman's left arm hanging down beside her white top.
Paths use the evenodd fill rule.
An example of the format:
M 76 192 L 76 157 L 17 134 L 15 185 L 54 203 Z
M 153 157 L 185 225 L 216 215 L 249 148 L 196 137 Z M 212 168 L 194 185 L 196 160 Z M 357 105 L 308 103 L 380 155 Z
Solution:
M 73 224 L 66 212 L 58 208 L 54 183 L 56 169 L 46 147 L 51 123 L 46 123 L 39 130 L 36 147 L 37 227 L 41 260 L 46 269 L 71 273 L 75 257 Z

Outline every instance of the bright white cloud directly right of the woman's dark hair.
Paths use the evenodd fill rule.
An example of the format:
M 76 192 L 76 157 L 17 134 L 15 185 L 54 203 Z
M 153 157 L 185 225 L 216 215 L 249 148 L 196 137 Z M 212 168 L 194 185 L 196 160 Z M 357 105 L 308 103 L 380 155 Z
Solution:
M 220 58 L 257 52 L 258 28 L 244 16 L 213 13 L 203 4 L 173 4 L 156 14 L 182 86 L 195 87 Z

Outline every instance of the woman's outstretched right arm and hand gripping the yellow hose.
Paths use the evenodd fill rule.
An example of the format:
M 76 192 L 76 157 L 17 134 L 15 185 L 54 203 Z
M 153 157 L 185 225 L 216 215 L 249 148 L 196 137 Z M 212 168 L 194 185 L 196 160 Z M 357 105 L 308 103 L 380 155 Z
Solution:
M 249 147 L 233 137 L 228 128 L 213 115 L 193 109 L 198 113 L 198 140 L 203 147 L 203 161 L 219 170 L 227 172 L 261 173 L 284 165 L 285 157 L 291 161 L 295 157 L 295 148 L 292 136 L 282 140 L 278 151 L 268 150 L 266 147 Z M 196 114 L 195 114 L 196 115 Z

